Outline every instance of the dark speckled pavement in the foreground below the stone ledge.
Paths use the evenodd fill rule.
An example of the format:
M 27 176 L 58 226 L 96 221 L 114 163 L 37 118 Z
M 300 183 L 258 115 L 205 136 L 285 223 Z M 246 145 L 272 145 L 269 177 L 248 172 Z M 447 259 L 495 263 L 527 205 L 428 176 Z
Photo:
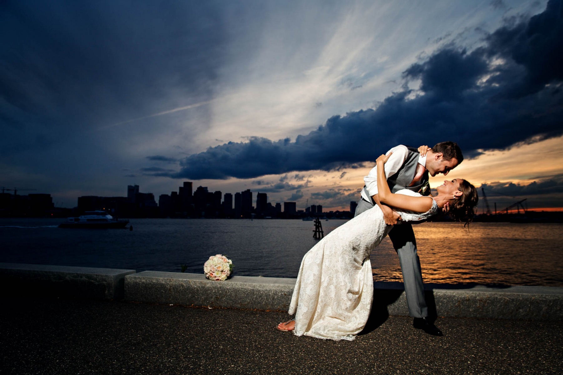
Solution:
M 287 313 L 5 301 L 2 374 L 561 374 L 563 323 L 378 317 L 354 341 L 275 331 Z

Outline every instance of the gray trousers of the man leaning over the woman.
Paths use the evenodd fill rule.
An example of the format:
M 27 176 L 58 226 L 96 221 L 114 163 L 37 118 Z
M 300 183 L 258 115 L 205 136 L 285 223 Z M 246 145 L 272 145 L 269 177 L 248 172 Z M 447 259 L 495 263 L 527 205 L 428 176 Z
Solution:
M 370 202 L 360 199 L 354 217 L 373 206 Z M 428 308 L 424 297 L 421 262 L 418 259 L 417 242 L 414 238 L 412 225 L 409 223 L 395 225 L 391 232 L 389 232 L 389 238 L 393 243 L 393 247 L 395 247 L 395 251 L 399 254 L 409 315 L 414 318 L 427 317 Z

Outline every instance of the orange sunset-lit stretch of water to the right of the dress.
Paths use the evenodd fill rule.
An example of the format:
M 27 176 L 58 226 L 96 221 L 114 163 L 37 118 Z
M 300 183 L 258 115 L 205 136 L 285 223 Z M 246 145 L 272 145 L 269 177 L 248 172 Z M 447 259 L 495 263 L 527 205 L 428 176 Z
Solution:
M 563 286 L 561 224 L 413 225 L 425 283 Z M 403 281 L 386 238 L 371 256 L 375 281 Z M 549 275 L 549 276 L 546 276 Z

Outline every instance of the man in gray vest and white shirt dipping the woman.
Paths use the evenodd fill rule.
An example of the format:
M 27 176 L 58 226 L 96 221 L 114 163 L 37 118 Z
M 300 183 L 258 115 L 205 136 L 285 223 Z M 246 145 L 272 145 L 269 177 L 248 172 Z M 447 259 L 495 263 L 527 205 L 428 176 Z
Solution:
M 409 189 L 422 195 L 430 194 L 428 174 L 434 177 L 437 174 L 454 169 L 463 161 L 463 155 L 455 142 L 441 142 L 421 156 L 417 149 L 406 147 L 402 144 L 391 148 L 387 153 L 393 152 L 385 163 L 385 175 L 392 192 L 400 189 Z M 369 171 L 364 178 L 365 186 L 361 191 L 361 199 L 356 207 L 354 216 L 378 205 L 383 211 L 386 224 L 395 225 L 400 217 L 391 207 L 379 202 L 377 192 L 377 166 Z M 406 304 L 409 315 L 414 317 L 413 327 L 423 329 L 426 333 L 435 336 L 444 336 L 434 323 L 428 319 L 428 308 L 424 296 L 422 283 L 421 264 L 418 259 L 417 245 L 413 228 L 409 223 L 395 225 L 389 233 L 389 238 L 399 254 L 403 282 L 405 286 Z

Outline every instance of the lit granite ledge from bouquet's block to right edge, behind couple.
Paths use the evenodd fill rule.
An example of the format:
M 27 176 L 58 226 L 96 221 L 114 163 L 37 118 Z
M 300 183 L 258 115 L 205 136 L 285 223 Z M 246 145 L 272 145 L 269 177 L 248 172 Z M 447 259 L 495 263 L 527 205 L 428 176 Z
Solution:
M 296 279 L 235 276 L 211 281 L 203 274 L 145 271 L 125 278 L 125 299 L 242 308 L 288 310 Z M 430 315 L 455 318 L 563 319 L 563 288 L 428 285 Z M 402 283 L 374 283 L 373 314 L 408 315 Z

